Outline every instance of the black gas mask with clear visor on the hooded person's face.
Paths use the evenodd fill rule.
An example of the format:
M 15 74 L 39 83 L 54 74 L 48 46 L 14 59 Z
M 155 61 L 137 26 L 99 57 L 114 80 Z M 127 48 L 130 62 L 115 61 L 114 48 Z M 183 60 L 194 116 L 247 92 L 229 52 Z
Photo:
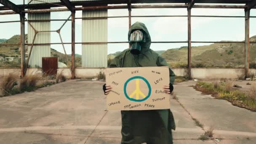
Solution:
M 129 41 L 129 44 L 131 45 L 130 52 L 132 54 L 138 55 L 139 53 L 141 53 L 141 44 L 145 42 L 146 42 L 146 37 L 142 31 L 140 30 L 133 31 L 130 35 L 130 41 Z

